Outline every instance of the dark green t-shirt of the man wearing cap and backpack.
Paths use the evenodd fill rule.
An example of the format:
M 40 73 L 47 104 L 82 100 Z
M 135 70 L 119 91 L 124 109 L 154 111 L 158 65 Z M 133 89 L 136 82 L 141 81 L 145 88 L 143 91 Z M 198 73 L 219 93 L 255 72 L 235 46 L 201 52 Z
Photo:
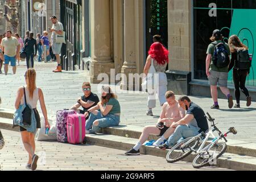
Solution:
M 218 40 L 217 41 L 217 44 L 218 43 L 221 43 L 222 41 L 221 40 Z M 228 51 L 228 54 L 230 55 L 230 49 L 229 49 L 229 45 L 227 43 L 225 43 L 225 47 L 226 47 L 226 50 Z M 216 71 L 216 72 L 225 72 L 225 73 L 228 73 L 229 72 L 229 67 L 226 67 L 226 68 L 217 68 L 216 65 L 213 64 L 213 56 L 214 56 L 214 49 L 215 49 L 215 46 L 213 44 L 210 44 L 208 46 L 208 49 L 207 49 L 207 54 L 210 54 L 212 55 L 212 59 L 210 60 L 210 70 L 212 71 Z

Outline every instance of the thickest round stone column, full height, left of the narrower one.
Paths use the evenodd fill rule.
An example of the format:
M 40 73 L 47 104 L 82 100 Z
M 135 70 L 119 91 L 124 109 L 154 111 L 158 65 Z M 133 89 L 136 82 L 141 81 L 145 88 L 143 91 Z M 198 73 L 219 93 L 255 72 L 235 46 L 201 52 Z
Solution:
M 110 0 L 90 0 L 90 5 L 92 47 L 90 81 L 98 84 L 102 81 L 97 79 L 100 73 L 110 76 L 110 69 L 114 69 L 110 42 Z

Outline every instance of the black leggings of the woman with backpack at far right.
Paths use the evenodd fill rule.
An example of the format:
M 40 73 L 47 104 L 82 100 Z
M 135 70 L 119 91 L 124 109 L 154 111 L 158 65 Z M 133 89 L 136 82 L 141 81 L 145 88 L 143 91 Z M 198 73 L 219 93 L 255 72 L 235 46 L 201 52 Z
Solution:
M 246 97 L 250 96 L 248 90 L 245 87 L 247 73 L 247 70 L 233 69 L 233 81 L 236 89 L 235 93 L 237 104 L 240 104 L 240 89 L 242 90 Z

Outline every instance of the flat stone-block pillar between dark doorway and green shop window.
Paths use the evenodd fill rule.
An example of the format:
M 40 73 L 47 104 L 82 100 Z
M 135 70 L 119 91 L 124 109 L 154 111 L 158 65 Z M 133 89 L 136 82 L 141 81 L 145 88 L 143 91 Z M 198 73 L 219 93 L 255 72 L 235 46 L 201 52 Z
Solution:
M 191 1 L 168 0 L 169 69 L 191 72 Z

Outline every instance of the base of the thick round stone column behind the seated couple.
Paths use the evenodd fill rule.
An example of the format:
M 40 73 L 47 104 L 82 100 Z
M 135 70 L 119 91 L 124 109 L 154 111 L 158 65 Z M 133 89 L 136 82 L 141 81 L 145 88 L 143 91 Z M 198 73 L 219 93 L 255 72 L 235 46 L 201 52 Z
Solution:
M 102 62 L 98 62 L 96 60 L 92 61 L 92 64 L 90 64 L 90 82 L 92 84 L 100 84 L 102 81 L 106 81 L 103 80 L 102 78 L 100 78 L 101 80 L 98 80 L 98 75 L 100 75 L 100 73 L 106 73 L 109 76 L 109 84 L 110 84 L 110 70 L 114 69 L 114 63 L 113 61 L 104 61 Z

